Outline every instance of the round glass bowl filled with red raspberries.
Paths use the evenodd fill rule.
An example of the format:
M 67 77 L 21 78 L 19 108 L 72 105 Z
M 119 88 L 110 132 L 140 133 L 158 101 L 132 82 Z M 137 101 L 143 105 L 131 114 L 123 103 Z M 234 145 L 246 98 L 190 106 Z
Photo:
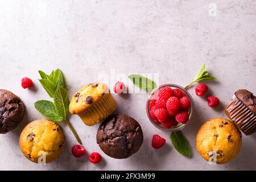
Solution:
M 182 86 L 164 84 L 154 89 L 146 103 L 147 116 L 160 130 L 178 131 L 191 119 L 194 102 Z

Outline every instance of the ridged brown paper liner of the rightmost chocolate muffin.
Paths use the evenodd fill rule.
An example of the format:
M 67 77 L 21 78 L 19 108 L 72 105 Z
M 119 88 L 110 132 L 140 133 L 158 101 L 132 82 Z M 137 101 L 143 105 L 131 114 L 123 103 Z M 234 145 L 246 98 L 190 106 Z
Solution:
M 256 131 L 256 115 L 246 107 L 236 96 L 226 106 L 226 115 L 246 135 Z

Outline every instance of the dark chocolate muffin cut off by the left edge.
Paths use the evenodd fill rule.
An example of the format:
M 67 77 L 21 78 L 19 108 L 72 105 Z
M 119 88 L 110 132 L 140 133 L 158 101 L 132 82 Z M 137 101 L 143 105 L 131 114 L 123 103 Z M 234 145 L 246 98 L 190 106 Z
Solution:
M 25 107 L 14 93 L 0 89 L 0 134 L 15 129 L 24 117 Z

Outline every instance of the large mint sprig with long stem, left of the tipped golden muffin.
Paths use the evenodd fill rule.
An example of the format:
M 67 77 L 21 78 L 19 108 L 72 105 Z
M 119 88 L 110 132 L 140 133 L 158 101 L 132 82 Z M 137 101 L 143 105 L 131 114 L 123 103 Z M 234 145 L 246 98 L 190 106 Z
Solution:
M 47 100 L 36 101 L 36 110 L 54 122 L 67 123 L 72 133 L 75 135 L 77 142 L 82 144 L 75 129 L 67 119 L 70 101 L 62 72 L 60 69 L 56 69 L 56 71 L 52 71 L 50 75 L 47 75 L 43 71 L 39 71 L 39 75 L 42 78 L 39 80 L 41 85 L 46 90 L 49 97 L 53 98 L 53 102 Z

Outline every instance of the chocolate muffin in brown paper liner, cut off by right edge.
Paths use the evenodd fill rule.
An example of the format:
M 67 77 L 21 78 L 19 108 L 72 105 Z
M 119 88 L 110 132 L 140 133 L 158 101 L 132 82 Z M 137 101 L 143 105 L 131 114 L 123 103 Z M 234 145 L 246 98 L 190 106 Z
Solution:
M 256 97 L 248 90 L 237 90 L 225 109 L 226 115 L 246 135 L 256 131 Z

